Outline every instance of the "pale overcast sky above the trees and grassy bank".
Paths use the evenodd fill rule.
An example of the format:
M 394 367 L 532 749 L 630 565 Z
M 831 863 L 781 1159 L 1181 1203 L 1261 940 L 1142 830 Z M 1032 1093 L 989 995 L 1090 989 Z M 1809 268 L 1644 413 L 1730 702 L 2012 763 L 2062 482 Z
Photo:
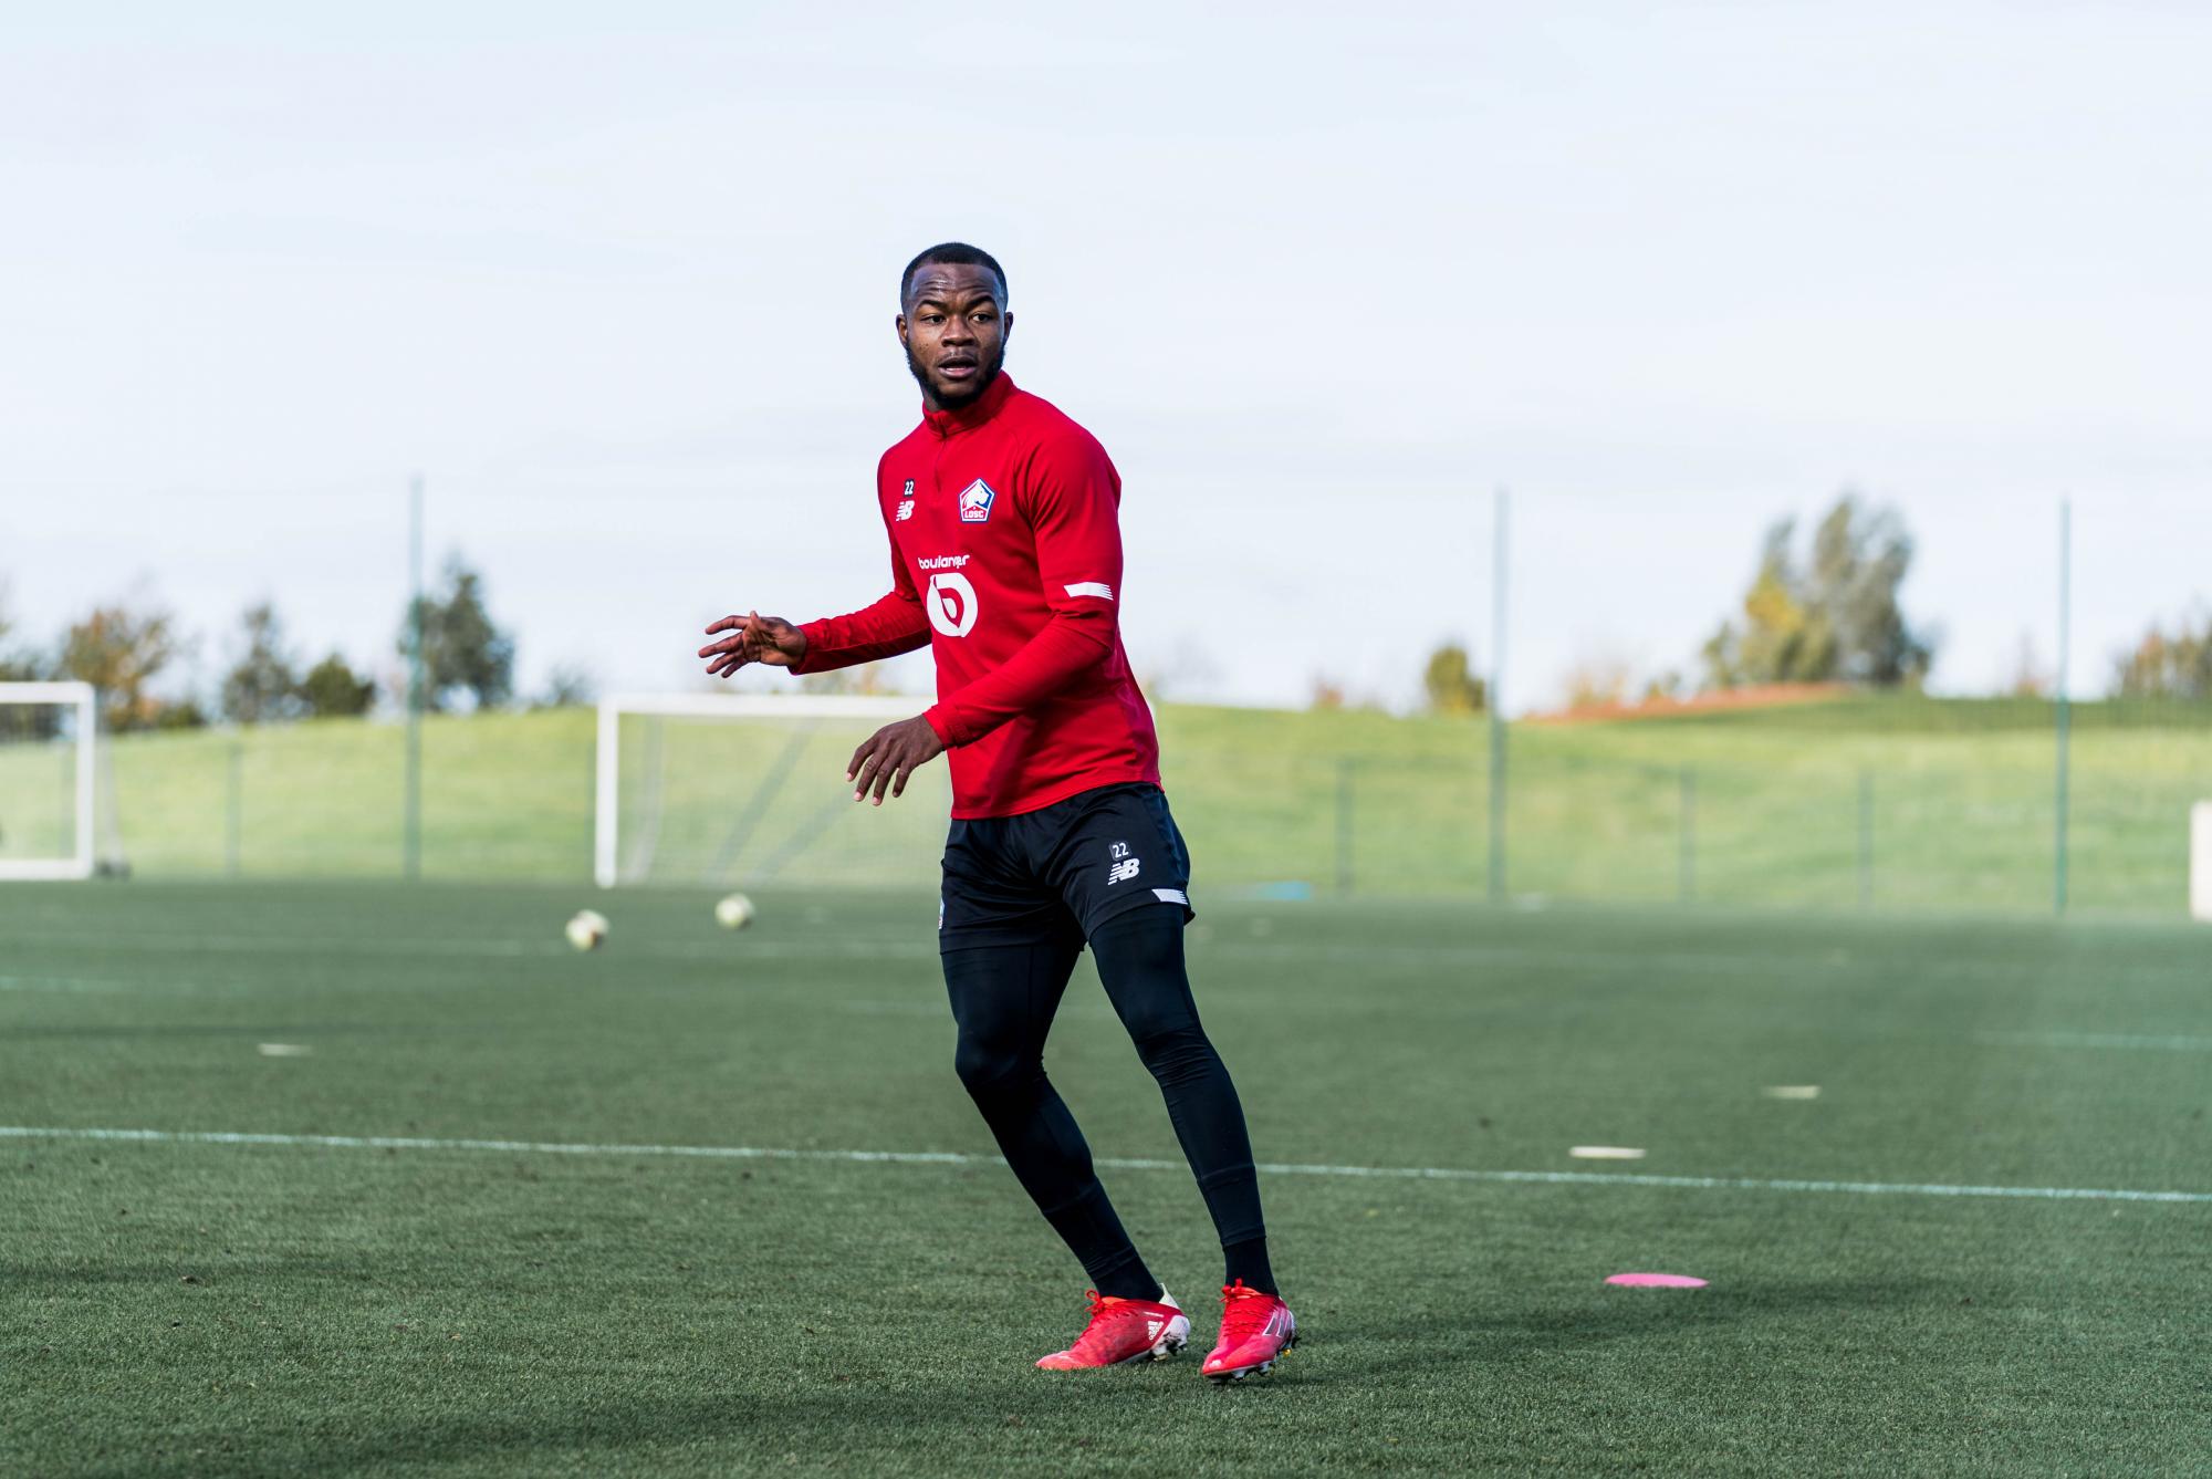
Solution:
M 7 9 L 31 633 L 155 598 L 212 678 L 272 596 L 387 669 L 422 469 L 529 686 L 695 686 L 708 618 L 880 593 L 945 237 L 1183 693 L 1486 662 L 1500 483 L 1515 706 L 1690 666 L 1843 485 L 1949 689 L 2051 662 L 2062 494 L 2077 689 L 2212 598 L 2212 7 Z

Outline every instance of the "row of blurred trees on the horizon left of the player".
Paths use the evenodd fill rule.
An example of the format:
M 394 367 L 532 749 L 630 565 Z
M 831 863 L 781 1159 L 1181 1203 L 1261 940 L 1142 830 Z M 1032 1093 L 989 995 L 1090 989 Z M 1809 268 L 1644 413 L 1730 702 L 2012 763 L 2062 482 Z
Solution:
M 93 607 L 46 642 L 27 642 L 0 589 L 0 682 L 77 680 L 100 689 L 102 724 L 113 731 L 197 728 L 217 720 L 279 724 L 363 715 L 378 695 L 407 704 L 414 658 L 416 604 L 400 613 L 385 680 L 356 669 L 332 649 L 307 662 L 285 638 L 270 600 L 246 607 L 232 633 L 230 658 L 206 691 L 173 682 L 197 649 L 175 613 L 128 600 Z M 445 562 L 438 587 L 420 598 L 422 706 L 502 709 L 515 700 L 515 638 L 493 620 L 484 578 L 462 556 Z M 542 704 L 588 702 L 591 684 L 573 669 L 557 669 Z

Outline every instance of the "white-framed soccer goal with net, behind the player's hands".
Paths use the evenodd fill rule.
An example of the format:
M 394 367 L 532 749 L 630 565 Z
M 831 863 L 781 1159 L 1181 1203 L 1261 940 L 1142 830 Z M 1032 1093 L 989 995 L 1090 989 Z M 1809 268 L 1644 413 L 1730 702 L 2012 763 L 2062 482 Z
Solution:
M 945 757 L 854 804 L 845 764 L 920 697 L 617 695 L 599 704 L 593 877 L 690 886 L 929 886 Z

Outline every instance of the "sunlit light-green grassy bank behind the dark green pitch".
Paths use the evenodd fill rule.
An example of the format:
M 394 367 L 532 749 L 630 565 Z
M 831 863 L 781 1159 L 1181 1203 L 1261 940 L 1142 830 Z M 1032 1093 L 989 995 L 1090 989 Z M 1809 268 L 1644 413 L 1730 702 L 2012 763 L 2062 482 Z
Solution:
M 920 702 L 916 702 L 920 706 Z M 942 764 L 865 815 L 843 799 L 847 724 L 626 720 L 624 766 L 655 757 L 659 883 L 927 886 Z M 1491 728 L 1478 715 L 1166 704 L 1164 766 L 1201 888 L 1493 897 Z M 1812 695 L 1679 715 L 1515 722 L 1498 897 L 1794 908 L 2053 908 L 2055 744 L 2046 700 Z M 431 715 L 422 726 L 422 875 L 586 879 L 593 715 Z M 58 757 L 0 746 L 0 821 L 66 824 Z M 394 877 L 403 726 L 283 726 L 108 742 L 131 870 L 192 877 Z M 763 782 L 763 770 L 772 775 Z M 626 808 L 644 782 L 624 782 Z M 2068 901 L 2177 914 L 2188 810 L 2212 797 L 2212 706 L 2073 709 Z M 849 815 L 847 815 L 849 813 Z M 24 819 L 24 821 L 18 821 Z

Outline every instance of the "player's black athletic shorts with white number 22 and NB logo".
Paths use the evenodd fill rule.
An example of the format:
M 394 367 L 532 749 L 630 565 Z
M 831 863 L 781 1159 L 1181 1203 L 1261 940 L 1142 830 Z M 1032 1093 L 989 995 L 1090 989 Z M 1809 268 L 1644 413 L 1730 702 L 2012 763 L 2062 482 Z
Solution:
M 1159 786 L 1082 790 L 1018 817 L 953 819 L 938 950 L 1091 934 L 1148 903 L 1190 908 L 1190 855 Z

